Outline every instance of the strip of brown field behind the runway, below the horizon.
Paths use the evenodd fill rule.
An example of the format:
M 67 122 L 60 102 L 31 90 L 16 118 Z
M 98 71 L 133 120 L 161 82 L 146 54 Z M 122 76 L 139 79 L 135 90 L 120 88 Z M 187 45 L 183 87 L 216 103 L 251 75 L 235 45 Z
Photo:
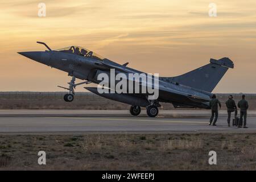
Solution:
M 76 92 L 72 102 L 63 100 L 67 92 L 0 92 L 0 109 L 129 109 L 130 105 L 108 100 L 93 93 Z M 225 101 L 228 94 L 217 94 L 222 107 L 226 109 Z M 233 94 L 236 103 L 241 100 L 241 94 Z M 246 94 L 250 110 L 256 110 L 256 94 Z M 160 103 L 162 109 L 174 109 L 170 103 Z

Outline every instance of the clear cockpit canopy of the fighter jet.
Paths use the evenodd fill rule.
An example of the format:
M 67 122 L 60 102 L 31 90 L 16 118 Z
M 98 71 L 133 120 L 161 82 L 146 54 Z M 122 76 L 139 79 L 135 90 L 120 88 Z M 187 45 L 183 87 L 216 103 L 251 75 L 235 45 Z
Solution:
M 65 53 L 73 53 L 73 54 L 76 54 L 76 55 L 90 57 L 92 59 L 97 59 L 97 60 L 100 60 L 100 61 L 105 59 L 105 57 L 97 55 L 97 53 L 94 53 L 92 51 L 89 51 L 86 48 L 79 47 L 79 46 L 65 47 L 65 48 L 62 48 L 62 49 L 57 49 L 55 51 L 65 52 Z

